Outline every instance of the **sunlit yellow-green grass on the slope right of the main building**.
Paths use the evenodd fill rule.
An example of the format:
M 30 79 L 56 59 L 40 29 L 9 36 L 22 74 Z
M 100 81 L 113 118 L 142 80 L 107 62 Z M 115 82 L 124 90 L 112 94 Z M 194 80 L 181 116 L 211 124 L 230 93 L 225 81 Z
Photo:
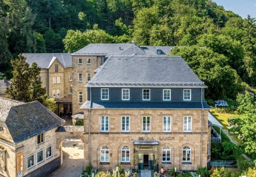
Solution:
M 230 127 L 228 126 L 228 118 L 231 116 L 235 116 L 235 113 L 218 113 L 215 112 L 214 109 L 210 112 L 211 115 L 213 115 L 215 119 L 217 119 L 221 123 L 225 130 L 229 130 Z M 235 134 L 231 132 L 228 132 L 228 134 L 232 137 L 233 140 L 235 140 L 238 143 L 238 145 L 242 145 L 243 141 L 237 138 Z

